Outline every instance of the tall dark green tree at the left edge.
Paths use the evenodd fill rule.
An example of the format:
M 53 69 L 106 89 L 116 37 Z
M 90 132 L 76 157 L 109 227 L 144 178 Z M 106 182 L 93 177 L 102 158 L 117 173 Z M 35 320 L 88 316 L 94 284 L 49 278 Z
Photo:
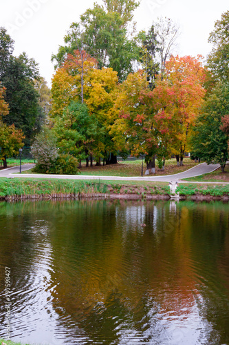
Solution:
M 9 114 L 3 121 L 23 130 L 25 145 L 29 146 L 41 128 L 39 93 L 34 88 L 39 70 L 34 59 L 29 59 L 25 53 L 14 57 L 13 50 L 14 41 L 5 28 L 0 28 L 0 82 L 6 88 L 4 97 L 9 105 Z

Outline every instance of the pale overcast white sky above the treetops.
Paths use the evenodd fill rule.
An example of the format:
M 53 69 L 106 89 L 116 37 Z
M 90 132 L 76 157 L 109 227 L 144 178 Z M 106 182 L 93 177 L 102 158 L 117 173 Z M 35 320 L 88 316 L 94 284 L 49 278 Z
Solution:
M 41 76 L 49 85 L 54 73 L 52 53 L 63 44 L 70 24 L 93 8 L 94 0 L 8 0 L 1 1 L 0 26 L 8 28 L 15 41 L 14 55 L 26 52 L 39 63 Z M 96 1 L 102 3 L 102 0 Z M 209 33 L 221 14 L 229 10 L 228 0 L 141 0 L 135 11 L 138 30 L 148 30 L 163 16 L 179 23 L 179 55 L 206 55 Z

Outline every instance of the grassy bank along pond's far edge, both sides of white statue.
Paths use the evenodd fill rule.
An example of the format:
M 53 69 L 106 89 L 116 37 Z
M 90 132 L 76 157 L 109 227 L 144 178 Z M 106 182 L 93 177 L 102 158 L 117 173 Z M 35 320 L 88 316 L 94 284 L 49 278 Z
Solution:
M 228 197 L 229 185 L 179 184 L 177 192 L 184 197 L 204 195 Z M 56 197 L 103 197 L 106 195 L 122 197 L 151 197 L 170 195 L 167 182 L 152 181 L 101 181 L 71 179 L 7 179 L 0 178 L 0 198 L 4 200 L 25 198 Z M 15 198 L 14 198 L 15 196 Z

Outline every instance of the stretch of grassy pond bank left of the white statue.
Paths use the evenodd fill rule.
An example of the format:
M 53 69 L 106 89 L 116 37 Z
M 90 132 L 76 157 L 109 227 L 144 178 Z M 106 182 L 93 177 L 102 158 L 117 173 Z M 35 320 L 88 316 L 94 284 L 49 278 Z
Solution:
M 0 197 L 5 199 L 12 196 L 38 196 L 47 195 L 164 195 L 170 191 L 168 184 L 164 182 L 148 181 L 82 181 L 52 179 L 7 179 L 0 178 Z

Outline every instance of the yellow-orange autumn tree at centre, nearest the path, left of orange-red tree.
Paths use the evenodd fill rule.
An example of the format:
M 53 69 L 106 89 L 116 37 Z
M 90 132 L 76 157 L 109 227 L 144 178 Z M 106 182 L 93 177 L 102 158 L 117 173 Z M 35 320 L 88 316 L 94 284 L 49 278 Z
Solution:
M 131 151 L 135 157 L 145 156 L 146 174 L 155 172 L 155 155 L 162 133 L 155 126 L 153 92 L 142 71 L 130 74 L 120 86 L 113 111 L 118 119 L 111 126 L 116 145 Z

